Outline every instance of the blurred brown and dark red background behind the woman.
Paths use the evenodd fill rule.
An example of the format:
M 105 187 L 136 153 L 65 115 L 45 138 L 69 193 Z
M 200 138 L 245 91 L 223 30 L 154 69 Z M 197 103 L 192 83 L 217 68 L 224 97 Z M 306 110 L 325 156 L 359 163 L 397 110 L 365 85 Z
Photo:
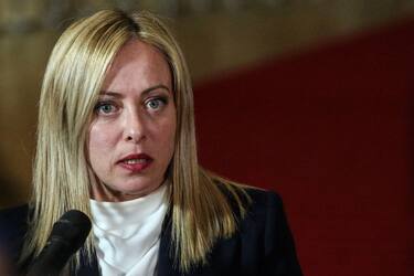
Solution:
M 202 164 L 283 195 L 305 275 L 414 275 L 412 0 L 1 0 L 0 206 L 30 194 L 54 42 L 114 7 L 164 17 Z

